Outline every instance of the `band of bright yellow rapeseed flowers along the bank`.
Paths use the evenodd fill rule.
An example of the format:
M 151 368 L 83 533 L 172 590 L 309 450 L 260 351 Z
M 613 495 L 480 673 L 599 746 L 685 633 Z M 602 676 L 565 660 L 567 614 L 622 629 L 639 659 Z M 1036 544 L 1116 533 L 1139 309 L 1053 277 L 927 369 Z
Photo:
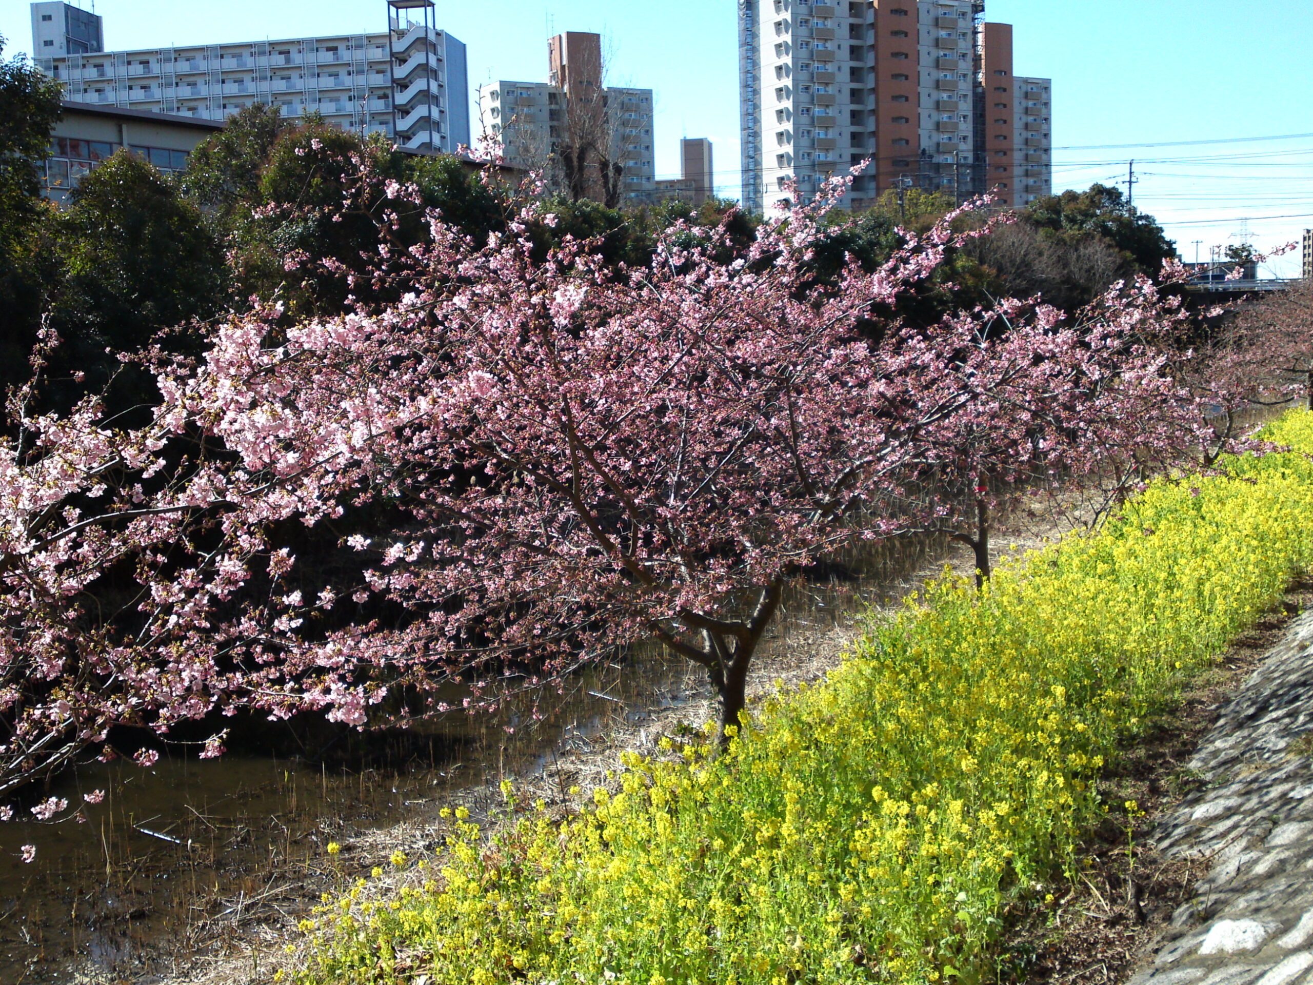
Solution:
M 1313 453 L 1313 414 L 1267 436 Z M 1313 462 L 1228 469 L 1153 483 L 982 594 L 931 584 L 720 759 L 628 755 L 614 796 L 565 823 L 529 809 L 491 844 L 453 820 L 425 888 L 318 915 L 302 980 L 986 977 L 1004 905 L 1095 817 L 1102 758 L 1313 562 Z

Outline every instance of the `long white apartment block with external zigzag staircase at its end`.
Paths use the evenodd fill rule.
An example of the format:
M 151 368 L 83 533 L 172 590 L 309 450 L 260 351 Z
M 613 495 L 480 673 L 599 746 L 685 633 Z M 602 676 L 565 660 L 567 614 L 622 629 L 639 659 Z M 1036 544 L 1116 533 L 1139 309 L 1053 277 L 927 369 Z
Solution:
M 374 34 L 105 51 L 98 16 L 34 3 L 33 51 L 76 102 L 200 120 L 265 102 L 288 118 L 320 113 L 407 150 L 453 152 L 470 142 L 465 45 L 436 28 L 432 8 L 390 0 L 389 29 Z

